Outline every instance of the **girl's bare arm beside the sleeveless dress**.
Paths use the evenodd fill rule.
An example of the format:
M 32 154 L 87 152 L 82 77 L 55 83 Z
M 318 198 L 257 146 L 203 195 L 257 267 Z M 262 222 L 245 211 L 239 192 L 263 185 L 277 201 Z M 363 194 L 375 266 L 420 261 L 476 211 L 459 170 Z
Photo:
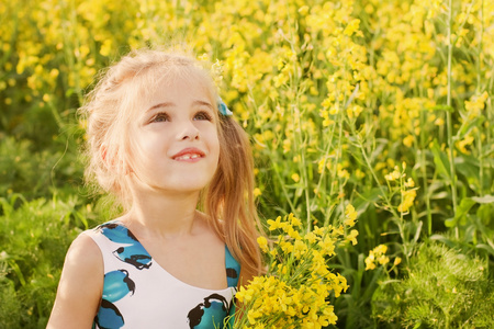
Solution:
M 67 252 L 47 329 L 91 328 L 103 279 L 100 249 L 90 237 L 80 235 Z

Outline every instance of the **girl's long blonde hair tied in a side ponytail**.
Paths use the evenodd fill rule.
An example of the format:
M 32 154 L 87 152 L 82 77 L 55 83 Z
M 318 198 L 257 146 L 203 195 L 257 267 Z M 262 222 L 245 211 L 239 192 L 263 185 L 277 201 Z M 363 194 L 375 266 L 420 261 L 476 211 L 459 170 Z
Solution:
M 87 181 L 98 182 L 100 189 L 128 208 L 132 196 L 124 177 L 133 159 L 128 157 L 132 140 L 125 132 L 137 100 L 147 97 L 149 87 L 157 86 L 158 80 L 198 77 L 217 105 L 211 73 L 190 54 L 135 50 L 111 66 L 79 109 L 87 120 Z M 201 193 L 201 205 L 216 234 L 240 262 L 245 284 L 261 271 L 252 154 L 244 129 L 232 117 L 215 115 L 220 161 L 211 183 Z

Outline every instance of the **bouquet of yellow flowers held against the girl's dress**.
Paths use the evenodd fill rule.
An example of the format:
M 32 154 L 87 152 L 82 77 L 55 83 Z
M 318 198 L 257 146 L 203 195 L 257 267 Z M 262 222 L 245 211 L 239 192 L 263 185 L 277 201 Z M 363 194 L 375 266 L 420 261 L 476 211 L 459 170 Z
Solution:
M 357 213 L 349 205 L 345 226 L 353 226 Z M 338 297 L 348 288 L 347 281 L 328 268 L 328 258 L 344 239 L 357 242 L 357 230 L 346 234 L 339 227 L 314 227 L 302 232 L 302 223 L 293 214 L 269 219 L 269 231 L 279 231 L 270 242 L 258 238 L 269 259 L 265 275 L 255 276 L 236 298 L 239 311 L 233 329 L 322 328 L 336 324 L 337 316 L 328 297 Z M 346 236 L 346 237 L 345 237 Z

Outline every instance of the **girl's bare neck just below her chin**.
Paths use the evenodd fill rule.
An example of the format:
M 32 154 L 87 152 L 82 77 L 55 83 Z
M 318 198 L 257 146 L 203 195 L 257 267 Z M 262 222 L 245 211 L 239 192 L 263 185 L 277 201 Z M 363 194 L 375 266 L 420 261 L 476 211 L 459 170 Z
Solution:
M 180 195 L 134 195 L 133 206 L 122 217 L 138 236 L 176 239 L 194 234 L 199 193 Z

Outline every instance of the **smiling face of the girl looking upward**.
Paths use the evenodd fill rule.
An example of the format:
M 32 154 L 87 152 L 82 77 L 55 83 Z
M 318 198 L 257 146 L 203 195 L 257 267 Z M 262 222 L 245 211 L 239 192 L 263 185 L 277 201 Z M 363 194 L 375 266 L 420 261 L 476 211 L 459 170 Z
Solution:
M 220 141 L 217 109 L 201 78 L 160 82 L 138 104 L 128 136 L 137 182 L 132 185 L 175 193 L 202 190 L 216 171 Z

